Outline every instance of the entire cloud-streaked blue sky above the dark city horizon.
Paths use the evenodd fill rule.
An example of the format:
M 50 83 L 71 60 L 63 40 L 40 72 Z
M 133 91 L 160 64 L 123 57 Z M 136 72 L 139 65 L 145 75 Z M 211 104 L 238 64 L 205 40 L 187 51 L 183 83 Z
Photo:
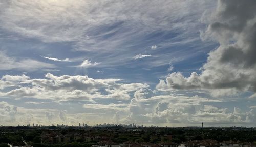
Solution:
M 0 125 L 256 127 L 256 1 L 3 0 Z

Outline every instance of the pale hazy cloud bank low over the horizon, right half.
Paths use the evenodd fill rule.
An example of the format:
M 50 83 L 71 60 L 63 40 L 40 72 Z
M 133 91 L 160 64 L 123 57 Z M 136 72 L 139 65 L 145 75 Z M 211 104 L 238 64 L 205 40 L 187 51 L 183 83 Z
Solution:
M 140 95 L 139 99 L 136 97 L 137 95 L 131 100 L 129 111 L 119 113 L 119 121 L 142 124 L 171 123 L 183 126 L 200 125 L 201 122 L 211 126 L 226 126 L 225 124 L 251 126 L 256 121 L 254 107 L 249 111 L 242 111 L 238 107 L 229 109 L 212 105 L 212 102 L 215 104 L 221 102 L 218 99 L 176 95 L 158 95 L 151 98 L 143 98 L 143 95 Z M 121 114 L 123 117 L 120 117 Z

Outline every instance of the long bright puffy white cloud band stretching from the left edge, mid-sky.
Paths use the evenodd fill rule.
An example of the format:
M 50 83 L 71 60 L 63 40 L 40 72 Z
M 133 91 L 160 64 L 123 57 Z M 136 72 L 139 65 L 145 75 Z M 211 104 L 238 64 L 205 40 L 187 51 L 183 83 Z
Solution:
M 23 77 L 23 81 L 11 82 L 6 79 Z M 5 75 L 0 80 L 4 87 L 13 86 L 10 90 L 0 92 L 2 97 L 13 98 L 38 98 L 65 101 L 70 99 L 91 100 L 93 98 L 109 98 L 129 100 L 132 92 L 139 89 L 147 89 L 147 84 L 142 83 L 117 83 L 121 79 L 93 79 L 88 76 L 55 76 L 47 73 L 46 79 L 30 79 L 23 76 Z M 21 85 L 21 83 L 23 85 Z M 105 94 L 103 94 L 103 93 Z

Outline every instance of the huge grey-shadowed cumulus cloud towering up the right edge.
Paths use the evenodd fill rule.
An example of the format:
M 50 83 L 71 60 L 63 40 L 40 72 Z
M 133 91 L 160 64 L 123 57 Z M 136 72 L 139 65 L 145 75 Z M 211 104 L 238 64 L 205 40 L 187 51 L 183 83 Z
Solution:
M 157 88 L 222 90 L 223 95 L 256 92 L 255 10 L 255 1 L 218 1 L 201 38 L 215 39 L 220 46 L 209 53 L 202 73 L 184 77 L 175 72 L 165 82 L 160 81 Z

